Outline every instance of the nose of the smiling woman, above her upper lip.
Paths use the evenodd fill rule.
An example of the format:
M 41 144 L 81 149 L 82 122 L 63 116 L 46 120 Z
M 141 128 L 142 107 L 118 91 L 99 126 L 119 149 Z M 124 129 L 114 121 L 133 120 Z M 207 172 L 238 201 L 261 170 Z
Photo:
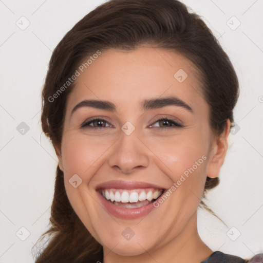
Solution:
M 149 149 L 135 132 L 130 135 L 122 133 L 111 148 L 108 164 L 119 173 L 129 175 L 148 166 L 148 152 Z

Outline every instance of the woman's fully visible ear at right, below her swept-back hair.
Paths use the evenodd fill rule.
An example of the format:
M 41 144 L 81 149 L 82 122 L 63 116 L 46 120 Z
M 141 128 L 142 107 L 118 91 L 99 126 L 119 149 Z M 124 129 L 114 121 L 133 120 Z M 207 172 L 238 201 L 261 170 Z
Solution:
M 212 142 L 207 170 L 207 176 L 210 178 L 216 178 L 219 175 L 221 166 L 223 165 L 224 157 L 226 157 L 228 149 L 230 127 L 231 122 L 228 119 L 226 128 L 223 130 L 222 134 L 216 136 Z

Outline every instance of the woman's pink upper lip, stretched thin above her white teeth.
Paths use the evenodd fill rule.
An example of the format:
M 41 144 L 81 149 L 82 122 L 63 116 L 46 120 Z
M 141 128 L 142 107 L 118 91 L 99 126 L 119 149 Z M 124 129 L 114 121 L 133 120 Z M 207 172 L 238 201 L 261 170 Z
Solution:
M 123 180 L 111 180 L 100 183 L 96 186 L 96 190 L 100 189 L 144 189 L 144 188 L 156 188 L 164 189 L 164 187 L 153 183 L 140 182 L 140 181 L 123 181 Z

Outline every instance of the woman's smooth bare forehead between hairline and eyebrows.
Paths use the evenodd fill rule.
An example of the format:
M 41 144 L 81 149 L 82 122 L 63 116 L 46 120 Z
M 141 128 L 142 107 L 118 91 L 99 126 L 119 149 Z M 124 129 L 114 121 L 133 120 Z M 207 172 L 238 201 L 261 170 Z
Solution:
M 198 70 L 190 60 L 173 50 L 108 49 L 85 64 L 89 58 L 84 59 L 84 66 L 78 69 L 80 75 L 68 105 L 83 99 L 110 99 L 117 105 L 134 107 L 142 98 L 168 96 L 179 97 L 190 104 L 204 102 Z

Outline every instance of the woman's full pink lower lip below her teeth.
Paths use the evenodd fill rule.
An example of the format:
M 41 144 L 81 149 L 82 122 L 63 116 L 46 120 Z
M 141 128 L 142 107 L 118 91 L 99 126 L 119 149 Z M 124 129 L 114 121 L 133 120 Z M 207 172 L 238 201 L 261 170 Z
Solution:
M 99 192 L 97 192 L 97 194 L 99 196 L 99 200 L 101 201 L 102 205 L 107 210 L 107 212 L 112 216 L 121 219 L 140 218 L 146 216 L 149 212 L 155 209 L 153 202 L 142 206 L 141 208 L 122 208 L 121 206 L 117 206 L 111 203 L 110 201 L 107 201 Z

